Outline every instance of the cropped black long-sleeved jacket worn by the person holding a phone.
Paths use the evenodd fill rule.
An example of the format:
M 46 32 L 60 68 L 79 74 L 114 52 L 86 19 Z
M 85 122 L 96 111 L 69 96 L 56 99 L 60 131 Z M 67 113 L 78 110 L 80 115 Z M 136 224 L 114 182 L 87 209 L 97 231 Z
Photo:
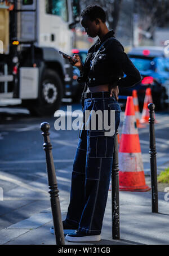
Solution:
M 124 53 L 124 47 L 114 37 L 101 48 L 91 70 L 91 60 L 101 44 L 109 37 L 114 37 L 114 31 L 110 30 L 102 40 L 98 38 L 88 50 L 83 66 L 83 72 L 78 77 L 79 83 L 87 82 L 88 86 L 101 84 L 113 84 L 117 81 L 119 87 L 131 87 L 141 80 L 140 72 Z M 126 77 L 123 77 L 124 73 Z

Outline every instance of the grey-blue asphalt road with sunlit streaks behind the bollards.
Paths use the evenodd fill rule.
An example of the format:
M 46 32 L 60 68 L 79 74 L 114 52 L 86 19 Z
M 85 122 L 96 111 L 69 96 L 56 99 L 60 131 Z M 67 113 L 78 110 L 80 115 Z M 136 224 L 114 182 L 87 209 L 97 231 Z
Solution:
M 66 111 L 66 103 L 61 110 Z M 72 105 L 81 110 L 81 104 Z M 33 118 L 29 111 L 19 107 L 0 108 L 0 230 L 29 218 L 50 207 L 48 194 L 45 151 L 40 130 L 42 122 L 50 123 L 52 153 L 60 190 L 60 201 L 70 193 L 75 150 L 79 131 L 56 131 L 55 117 Z M 124 112 L 121 115 L 121 134 Z M 169 123 L 168 113 L 155 113 L 158 173 L 169 166 Z M 149 125 L 139 129 L 141 152 L 146 181 L 150 182 Z

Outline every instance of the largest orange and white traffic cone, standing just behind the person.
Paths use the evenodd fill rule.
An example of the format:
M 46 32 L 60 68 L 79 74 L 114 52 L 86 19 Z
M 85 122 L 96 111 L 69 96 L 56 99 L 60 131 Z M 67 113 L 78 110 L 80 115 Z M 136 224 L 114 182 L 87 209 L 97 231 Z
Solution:
M 145 184 L 143 160 L 132 96 L 127 97 L 119 146 L 119 190 L 138 192 L 150 190 L 149 186 Z

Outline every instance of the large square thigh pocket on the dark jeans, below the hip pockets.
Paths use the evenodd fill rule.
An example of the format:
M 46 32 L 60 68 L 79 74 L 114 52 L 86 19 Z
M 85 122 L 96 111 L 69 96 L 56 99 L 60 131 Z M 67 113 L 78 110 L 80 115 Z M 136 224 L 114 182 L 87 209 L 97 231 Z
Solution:
M 88 157 L 112 158 L 114 150 L 114 136 L 104 136 L 104 131 L 90 131 L 88 143 Z

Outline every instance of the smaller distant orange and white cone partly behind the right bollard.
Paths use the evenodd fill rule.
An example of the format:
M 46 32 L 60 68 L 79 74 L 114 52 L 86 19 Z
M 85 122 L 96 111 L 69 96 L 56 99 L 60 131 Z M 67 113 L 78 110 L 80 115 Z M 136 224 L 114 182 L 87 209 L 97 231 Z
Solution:
M 153 103 L 153 99 L 152 99 L 152 90 L 151 88 L 146 88 L 145 90 L 145 98 L 144 98 L 144 106 L 143 106 L 143 112 L 141 115 L 141 120 L 140 123 L 144 124 L 144 123 L 149 123 L 149 109 L 148 109 L 148 105 L 149 103 Z M 154 119 L 155 119 L 155 114 L 154 114 Z M 157 121 L 155 120 L 155 123 L 157 123 Z

